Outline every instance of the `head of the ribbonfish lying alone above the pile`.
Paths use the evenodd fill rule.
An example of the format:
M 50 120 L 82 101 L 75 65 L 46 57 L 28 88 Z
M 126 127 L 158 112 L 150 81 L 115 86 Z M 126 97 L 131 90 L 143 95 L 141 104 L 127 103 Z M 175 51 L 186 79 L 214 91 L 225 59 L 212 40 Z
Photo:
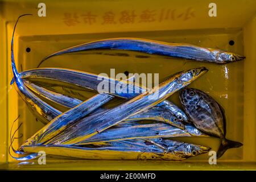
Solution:
M 228 51 L 218 53 L 216 56 L 216 61 L 218 63 L 230 63 L 234 61 L 240 61 L 243 59 L 245 59 L 245 56 L 240 56 L 236 53 L 228 52 Z

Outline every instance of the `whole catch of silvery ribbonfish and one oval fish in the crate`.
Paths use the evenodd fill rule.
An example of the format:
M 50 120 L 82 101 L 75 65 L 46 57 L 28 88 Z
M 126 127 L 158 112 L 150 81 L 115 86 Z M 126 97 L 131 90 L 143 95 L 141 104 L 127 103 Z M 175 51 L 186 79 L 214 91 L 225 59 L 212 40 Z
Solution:
M 241 143 L 225 138 L 225 115 L 222 107 L 207 93 L 185 88 L 203 76 L 208 71 L 207 68 L 175 73 L 152 89 L 137 84 L 134 77 L 128 80 L 102 77 L 110 85 L 109 89 L 84 101 L 53 92 L 31 80 L 40 78 L 97 92 L 97 86 L 102 82 L 98 75 L 64 68 L 36 68 L 19 73 L 14 60 L 14 32 L 11 41 L 11 84 L 15 85 L 20 97 L 45 126 L 24 141 L 18 150 L 10 146 L 19 155 L 13 158 L 35 159 L 39 151 L 45 151 L 47 155 L 80 159 L 183 160 L 210 150 L 206 146 L 170 139 L 174 137 L 219 137 L 222 142 L 217 152 L 218 157 L 228 148 L 242 146 Z M 117 38 L 67 48 L 52 53 L 46 59 L 89 49 L 123 49 L 217 64 L 244 58 L 232 52 L 191 44 Z M 119 90 L 122 92 L 111 90 L 118 84 L 122 85 Z M 184 111 L 166 100 L 179 90 Z M 125 98 L 125 102 L 108 109 L 103 106 L 118 97 Z M 45 100 L 69 109 L 61 112 Z M 141 122 L 144 120 L 152 122 Z M 14 139 L 11 138 L 11 143 Z

